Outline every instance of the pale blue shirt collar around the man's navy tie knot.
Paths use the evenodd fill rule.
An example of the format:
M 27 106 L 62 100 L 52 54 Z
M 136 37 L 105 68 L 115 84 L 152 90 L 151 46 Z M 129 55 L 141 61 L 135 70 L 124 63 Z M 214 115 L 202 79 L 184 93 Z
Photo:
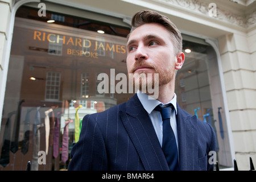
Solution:
M 152 110 L 155 109 L 156 106 L 159 104 L 163 104 L 162 102 L 156 100 L 155 98 L 148 96 L 146 93 L 141 92 L 141 90 L 138 90 L 137 96 L 139 98 L 139 101 L 141 101 L 142 106 L 147 111 L 148 114 L 151 114 Z M 177 99 L 176 94 L 174 93 L 174 98 L 172 98 L 171 101 L 167 102 L 166 104 L 172 104 L 174 105 L 175 114 L 177 114 Z

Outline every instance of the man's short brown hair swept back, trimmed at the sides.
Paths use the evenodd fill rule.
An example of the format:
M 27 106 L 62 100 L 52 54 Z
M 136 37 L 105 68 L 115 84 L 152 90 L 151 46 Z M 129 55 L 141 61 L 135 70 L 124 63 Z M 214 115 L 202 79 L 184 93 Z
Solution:
M 141 10 L 133 16 L 133 19 L 131 20 L 131 31 L 130 34 L 127 35 L 127 39 L 129 39 L 131 32 L 133 32 L 135 28 L 138 28 L 146 23 L 159 23 L 164 26 L 172 36 L 175 54 L 177 55 L 177 53 L 182 52 L 181 32 L 177 29 L 175 24 L 172 23 L 169 18 L 167 18 L 167 16 L 152 10 Z

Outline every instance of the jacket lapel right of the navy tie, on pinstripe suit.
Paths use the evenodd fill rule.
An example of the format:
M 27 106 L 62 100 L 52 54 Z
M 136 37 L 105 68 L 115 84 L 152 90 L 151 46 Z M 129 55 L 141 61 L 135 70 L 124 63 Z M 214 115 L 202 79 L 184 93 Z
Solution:
M 180 170 L 193 171 L 198 166 L 198 139 L 196 116 L 191 117 L 177 105 L 177 133 L 179 138 Z

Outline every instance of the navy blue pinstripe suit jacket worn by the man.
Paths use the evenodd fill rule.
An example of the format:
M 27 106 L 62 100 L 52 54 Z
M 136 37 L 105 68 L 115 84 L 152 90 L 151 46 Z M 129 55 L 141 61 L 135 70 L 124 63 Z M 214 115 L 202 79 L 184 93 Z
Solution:
M 177 106 L 181 170 L 210 170 L 216 137 L 208 123 Z M 154 127 L 135 94 L 102 113 L 85 115 L 68 170 L 168 170 Z

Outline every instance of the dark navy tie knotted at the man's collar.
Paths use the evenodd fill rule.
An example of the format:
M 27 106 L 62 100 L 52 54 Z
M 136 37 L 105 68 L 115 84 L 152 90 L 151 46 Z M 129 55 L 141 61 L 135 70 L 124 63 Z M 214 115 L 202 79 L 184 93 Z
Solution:
M 178 153 L 177 153 L 177 144 L 170 123 L 170 115 L 172 110 L 172 104 L 156 106 L 155 110 L 160 111 L 163 120 L 163 144 L 162 149 L 168 166 L 171 171 L 179 171 L 179 162 L 178 162 Z

